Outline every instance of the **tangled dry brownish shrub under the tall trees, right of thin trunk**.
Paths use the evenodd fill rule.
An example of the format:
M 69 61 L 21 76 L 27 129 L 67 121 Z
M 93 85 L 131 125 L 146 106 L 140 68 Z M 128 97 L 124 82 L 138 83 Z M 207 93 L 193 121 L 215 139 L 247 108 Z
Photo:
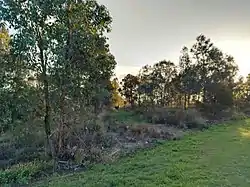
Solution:
M 84 165 L 100 162 L 104 149 L 113 143 L 113 139 L 105 129 L 105 126 L 108 126 L 107 121 L 112 118 L 84 111 L 84 113 L 72 113 L 65 119 L 67 126 L 55 131 L 52 137 L 56 158 Z M 60 123 L 60 120 L 58 121 Z M 113 122 L 110 130 L 112 125 Z

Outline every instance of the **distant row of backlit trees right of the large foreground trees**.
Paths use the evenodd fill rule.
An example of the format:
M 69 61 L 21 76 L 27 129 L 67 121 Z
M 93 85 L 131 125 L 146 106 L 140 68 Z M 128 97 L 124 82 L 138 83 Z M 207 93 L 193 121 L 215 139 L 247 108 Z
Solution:
M 250 74 L 238 79 L 238 73 L 232 56 L 199 35 L 190 49 L 183 47 L 178 65 L 146 65 L 122 79 L 120 93 L 132 106 L 202 107 L 216 114 L 250 106 Z

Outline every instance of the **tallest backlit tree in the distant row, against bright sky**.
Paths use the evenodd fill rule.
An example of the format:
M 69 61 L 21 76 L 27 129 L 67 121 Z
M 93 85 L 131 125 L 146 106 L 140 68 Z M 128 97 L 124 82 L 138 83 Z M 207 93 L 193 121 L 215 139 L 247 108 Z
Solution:
M 228 87 L 225 98 L 228 98 L 227 104 L 232 105 L 233 83 L 238 71 L 234 59 L 223 54 L 204 35 L 197 37 L 197 42 L 193 45 L 191 52 L 198 72 L 200 91 L 203 93 L 203 103 L 211 106 L 215 106 L 215 103 L 224 105 L 224 101 L 220 100 L 220 103 L 218 93 L 221 93 L 221 89 L 225 91 L 224 88 Z M 229 95 L 231 95 L 230 99 Z

